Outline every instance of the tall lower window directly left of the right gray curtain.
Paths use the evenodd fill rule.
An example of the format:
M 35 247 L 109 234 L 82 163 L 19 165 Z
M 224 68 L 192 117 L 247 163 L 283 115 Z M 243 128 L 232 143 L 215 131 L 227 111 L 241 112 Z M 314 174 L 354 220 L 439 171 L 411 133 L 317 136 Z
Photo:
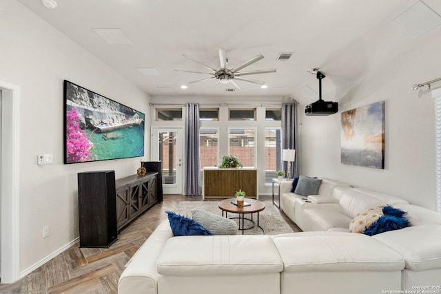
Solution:
M 277 178 L 277 171 L 282 168 L 282 131 L 280 127 L 265 129 L 265 185 Z

